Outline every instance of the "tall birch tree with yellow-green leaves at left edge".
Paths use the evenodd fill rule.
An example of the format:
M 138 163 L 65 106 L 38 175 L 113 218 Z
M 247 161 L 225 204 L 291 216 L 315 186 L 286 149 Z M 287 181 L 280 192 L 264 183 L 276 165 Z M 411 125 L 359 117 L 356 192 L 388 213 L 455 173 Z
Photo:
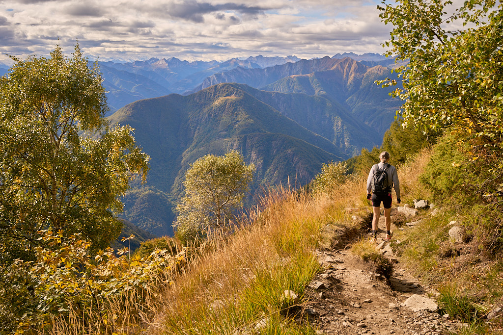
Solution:
M 30 249 L 51 228 L 103 249 L 122 226 L 118 196 L 144 180 L 149 157 L 130 127 L 106 127 L 98 64 L 78 45 L 70 58 L 59 46 L 49 58 L 12 58 L 0 77 L 0 243 Z

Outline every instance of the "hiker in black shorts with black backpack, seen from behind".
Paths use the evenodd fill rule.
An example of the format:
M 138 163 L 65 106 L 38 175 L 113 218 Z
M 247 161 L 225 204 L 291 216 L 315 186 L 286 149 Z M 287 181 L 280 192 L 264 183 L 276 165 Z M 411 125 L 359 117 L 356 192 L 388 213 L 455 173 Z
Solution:
M 381 214 L 381 201 L 384 205 L 384 220 L 386 222 L 386 240 L 391 239 L 391 188 L 394 187 L 396 193 L 396 202 L 400 203 L 400 182 L 396 168 L 388 164 L 389 153 L 381 152 L 379 155 L 380 163 L 374 164 L 367 178 L 367 199 L 372 198 L 372 209 L 374 217 L 372 219 L 372 242 L 377 241 L 377 226 L 379 225 L 379 216 Z M 372 191 L 372 193 L 371 193 Z

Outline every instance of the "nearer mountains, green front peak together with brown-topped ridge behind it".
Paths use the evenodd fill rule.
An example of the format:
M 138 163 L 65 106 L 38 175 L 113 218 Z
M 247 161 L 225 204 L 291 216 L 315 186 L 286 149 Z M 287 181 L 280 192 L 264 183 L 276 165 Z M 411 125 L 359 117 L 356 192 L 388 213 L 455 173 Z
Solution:
M 279 183 L 308 183 L 323 163 L 379 145 L 399 107 L 389 89 L 374 84 L 386 76 L 387 67 L 347 57 L 239 67 L 210 76 L 203 81 L 208 87 L 193 93 L 120 108 L 110 121 L 135 128 L 151 156 L 147 183 L 125 196 L 123 217 L 155 235 L 172 235 L 184 173 L 206 154 L 238 150 L 254 163 L 253 196 Z M 233 82 L 214 83 L 218 78 Z

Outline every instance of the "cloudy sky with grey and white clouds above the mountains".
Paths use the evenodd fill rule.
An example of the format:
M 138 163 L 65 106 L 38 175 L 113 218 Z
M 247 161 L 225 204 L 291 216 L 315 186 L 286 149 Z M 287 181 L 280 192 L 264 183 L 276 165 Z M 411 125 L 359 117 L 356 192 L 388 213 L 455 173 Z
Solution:
M 383 53 L 380 0 L 0 0 L 5 54 L 45 56 L 78 39 L 90 59 L 226 60 Z

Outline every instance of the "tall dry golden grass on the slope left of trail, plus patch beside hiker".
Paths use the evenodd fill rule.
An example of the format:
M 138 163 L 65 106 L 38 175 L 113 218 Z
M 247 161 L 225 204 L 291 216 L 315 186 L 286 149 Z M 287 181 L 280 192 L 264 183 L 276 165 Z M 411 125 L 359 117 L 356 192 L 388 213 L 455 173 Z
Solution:
M 418 161 L 399 167 L 402 192 L 407 196 L 422 192 L 415 185 L 426 156 L 423 152 Z M 319 266 L 313 249 L 330 248 L 338 233 L 358 230 L 358 220 L 352 216 L 369 212 L 366 176 L 354 177 L 316 197 L 289 188 L 271 189 L 256 209 L 237 223 L 233 234 L 213 232 L 197 250 L 189 250 L 190 261 L 172 285 L 151 285 L 141 297 L 129 292 L 110 300 L 107 315 L 111 317 L 107 319 L 99 313 L 87 320 L 72 314 L 56 319 L 52 329 L 44 333 L 97 334 L 106 329 L 117 334 L 199 334 L 242 330 L 263 314 L 278 315 L 275 304 L 284 289 L 294 288 L 302 295 L 302 286 Z M 285 284 L 277 285 L 279 281 Z M 253 299 L 258 302 L 250 301 Z

